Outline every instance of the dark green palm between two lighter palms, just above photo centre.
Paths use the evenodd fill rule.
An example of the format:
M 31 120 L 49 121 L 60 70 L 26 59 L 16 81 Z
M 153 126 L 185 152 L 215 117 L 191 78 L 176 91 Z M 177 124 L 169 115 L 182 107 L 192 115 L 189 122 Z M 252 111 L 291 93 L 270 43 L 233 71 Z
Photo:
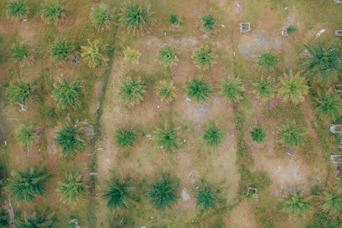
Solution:
M 197 102 L 207 101 L 213 94 L 213 88 L 206 84 L 202 77 L 192 78 L 185 84 L 187 97 L 195 99 Z

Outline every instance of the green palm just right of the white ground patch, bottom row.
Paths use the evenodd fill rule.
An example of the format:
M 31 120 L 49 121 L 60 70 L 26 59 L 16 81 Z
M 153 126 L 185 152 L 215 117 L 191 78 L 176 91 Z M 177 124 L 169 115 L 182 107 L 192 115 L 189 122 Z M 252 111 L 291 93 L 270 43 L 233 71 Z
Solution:
M 215 196 L 218 194 L 218 190 L 212 190 L 203 180 L 201 180 L 201 183 L 202 186 L 197 189 L 197 205 L 202 206 L 205 211 L 209 210 L 209 208 L 215 208 L 215 204 L 219 202 Z

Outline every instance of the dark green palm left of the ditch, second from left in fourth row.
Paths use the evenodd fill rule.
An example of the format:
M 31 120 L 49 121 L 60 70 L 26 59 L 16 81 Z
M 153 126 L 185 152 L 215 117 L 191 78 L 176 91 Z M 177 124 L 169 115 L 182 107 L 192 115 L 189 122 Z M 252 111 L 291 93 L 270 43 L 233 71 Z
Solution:
M 81 153 L 86 144 L 79 129 L 68 123 L 57 131 L 55 142 L 62 148 L 62 154 L 66 158 L 73 158 Z

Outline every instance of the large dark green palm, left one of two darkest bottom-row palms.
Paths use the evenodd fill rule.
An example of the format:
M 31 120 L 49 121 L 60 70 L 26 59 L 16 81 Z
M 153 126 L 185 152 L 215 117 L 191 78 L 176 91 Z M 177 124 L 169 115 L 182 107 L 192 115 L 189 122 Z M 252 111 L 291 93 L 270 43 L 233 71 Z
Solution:
M 139 200 L 133 195 L 133 190 L 131 181 L 116 178 L 108 182 L 102 197 L 107 200 L 107 207 L 111 210 L 129 208 L 129 201 Z

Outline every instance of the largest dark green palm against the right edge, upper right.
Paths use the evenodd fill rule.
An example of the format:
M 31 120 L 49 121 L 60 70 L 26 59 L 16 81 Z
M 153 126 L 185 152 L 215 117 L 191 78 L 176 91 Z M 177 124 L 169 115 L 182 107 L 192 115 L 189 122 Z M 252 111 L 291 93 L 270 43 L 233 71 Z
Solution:
M 317 45 L 304 45 L 311 57 L 302 60 L 304 75 L 317 77 L 319 82 L 331 85 L 341 71 L 341 45 L 330 45 L 324 48 L 321 40 Z

